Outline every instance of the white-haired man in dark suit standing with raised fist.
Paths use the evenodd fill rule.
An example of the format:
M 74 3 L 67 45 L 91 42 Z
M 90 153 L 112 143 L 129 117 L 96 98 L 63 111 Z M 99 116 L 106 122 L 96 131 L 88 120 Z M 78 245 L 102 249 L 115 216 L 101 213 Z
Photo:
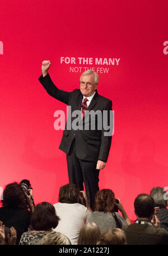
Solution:
M 49 60 L 44 60 L 39 81 L 50 96 L 71 108 L 59 146 L 67 154 L 69 183 L 83 190 L 84 181 L 88 202 L 94 208 L 99 171 L 106 165 L 111 146 L 112 102 L 97 93 L 99 76 L 96 72 L 84 72 L 80 89 L 67 92 L 54 85 L 48 74 L 49 68 Z

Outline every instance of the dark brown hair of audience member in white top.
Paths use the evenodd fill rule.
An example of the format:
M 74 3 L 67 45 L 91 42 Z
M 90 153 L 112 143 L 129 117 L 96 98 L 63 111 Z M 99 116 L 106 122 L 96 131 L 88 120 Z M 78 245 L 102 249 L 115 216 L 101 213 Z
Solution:
M 60 203 L 78 203 L 80 196 L 80 190 L 74 184 L 67 184 L 59 189 Z

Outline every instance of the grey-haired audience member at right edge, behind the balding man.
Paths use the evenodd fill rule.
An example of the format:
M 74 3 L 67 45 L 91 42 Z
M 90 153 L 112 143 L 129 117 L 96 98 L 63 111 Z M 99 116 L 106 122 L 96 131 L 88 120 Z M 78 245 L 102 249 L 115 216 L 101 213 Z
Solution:
M 156 216 L 160 221 L 160 227 L 168 231 L 167 192 L 164 188 L 155 187 L 151 190 L 150 196 L 155 201 Z

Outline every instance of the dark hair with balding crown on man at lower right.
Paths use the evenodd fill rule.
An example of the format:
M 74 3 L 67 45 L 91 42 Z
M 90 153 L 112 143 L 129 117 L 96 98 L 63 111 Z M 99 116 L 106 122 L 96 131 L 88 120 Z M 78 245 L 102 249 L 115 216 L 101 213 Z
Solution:
M 139 218 L 149 218 L 155 212 L 155 202 L 148 194 L 139 194 L 134 201 L 135 213 Z

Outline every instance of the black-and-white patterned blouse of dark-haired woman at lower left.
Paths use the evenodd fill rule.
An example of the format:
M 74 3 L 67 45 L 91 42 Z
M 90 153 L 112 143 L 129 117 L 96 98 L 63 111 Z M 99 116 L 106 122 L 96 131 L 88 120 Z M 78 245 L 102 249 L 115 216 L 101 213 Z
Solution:
M 48 232 L 38 231 L 38 232 L 24 232 L 21 236 L 19 244 L 21 245 L 36 245 L 39 244 L 40 240 L 48 234 Z

